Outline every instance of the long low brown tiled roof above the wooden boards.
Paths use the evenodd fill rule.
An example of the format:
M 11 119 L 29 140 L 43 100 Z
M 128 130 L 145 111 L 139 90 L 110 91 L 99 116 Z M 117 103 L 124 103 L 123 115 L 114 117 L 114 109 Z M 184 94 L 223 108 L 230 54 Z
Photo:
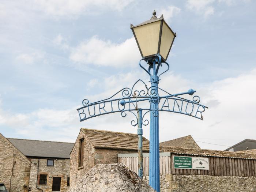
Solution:
M 230 152 L 230 151 L 217 151 L 217 150 L 208 150 L 208 149 L 191 149 L 191 148 L 160 146 L 160 152 L 171 152 L 175 154 L 185 154 L 185 155 L 203 155 L 203 156 L 211 156 L 211 157 L 256 159 L 256 154 L 244 153 L 241 151 Z

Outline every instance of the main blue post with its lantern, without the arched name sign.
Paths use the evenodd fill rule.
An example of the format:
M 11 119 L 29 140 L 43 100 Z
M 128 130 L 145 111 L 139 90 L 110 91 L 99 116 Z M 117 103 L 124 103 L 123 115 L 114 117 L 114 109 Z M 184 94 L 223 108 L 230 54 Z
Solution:
M 155 15 L 156 12 L 154 10 L 150 20 L 136 26 L 131 24 L 131 29 L 143 60 L 149 65 L 148 71 L 140 65 L 150 75 L 151 95 L 154 95 L 150 99 L 150 109 L 152 110 L 150 111 L 149 184 L 159 192 L 159 116 L 158 114 L 156 115 L 159 103 L 158 69 L 162 66 L 162 61 L 166 61 L 176 33 L 167 25 L 163 15 L 160 18 L 157 18 Z

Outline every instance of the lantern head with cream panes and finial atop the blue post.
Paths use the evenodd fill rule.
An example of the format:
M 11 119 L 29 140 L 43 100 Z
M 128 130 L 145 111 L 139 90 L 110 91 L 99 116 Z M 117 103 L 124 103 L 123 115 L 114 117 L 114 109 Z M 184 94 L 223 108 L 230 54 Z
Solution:
M 163 15 L 160 18 L 155 15 L 154 10 L 150 20 L 136 26 L 131 24 L 131 29 L 143 59 L 159 54 L 166 61 L 176 33 L 167 25 Z

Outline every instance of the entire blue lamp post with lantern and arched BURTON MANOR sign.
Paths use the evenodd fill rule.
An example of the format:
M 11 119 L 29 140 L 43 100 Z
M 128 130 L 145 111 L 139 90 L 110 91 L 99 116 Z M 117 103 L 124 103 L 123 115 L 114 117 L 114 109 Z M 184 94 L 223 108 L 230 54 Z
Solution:
M 91 103 L 88 99 L 83 99 L 83 106 L 77 110 L 81 122 L 93 117 L 118 112 L 121 113 L 122 117 L 126 117 L 127 112 L 134 115 L 135 120 L 131 121 L 131 125 L 133 127 L 138 125 L 138 170 L 141 178 L 143 176 L 142 125 L 148 125 L 149 121 L 145 120 L 144 117 L 150 112 L 149 184 L 155 191 L 159 192 L 159 111 L 180 113 L 203 120 L 202 113 L 208 107 L 200 104 L 200 97 L 197 95 L 192 100 L 179 97 L 186 94 L 193 95 L 196 92 L 193 89 L 171 94 L 158 87 L 159 77 L 169 70 L 166 59 L 172 48 L 176 33 L 167 25 L 163 15 L 160 18 L 155 15 L 156 12 L 154 11 L 150 20 L 136 26 L 131 24 L 142 60 L 146 61 L 148 69 L 142 66 L 142 60 L 140 60 L 139 65 L 150 76 L 151 86 L 148 87 L 145 82 L 139 79 L 131 88 L 125 87 L 106 99 Z M 159 69 L 163 64 L 167 66 L 167 69 L 159 74 Z M 138 83 L 143 85 L 140 90 L 135 88 Z M 143 101 L 149 101 L 150 107 L 138 107 L 138 102 Z M 134 113 L 135 111 L 137 115 Z

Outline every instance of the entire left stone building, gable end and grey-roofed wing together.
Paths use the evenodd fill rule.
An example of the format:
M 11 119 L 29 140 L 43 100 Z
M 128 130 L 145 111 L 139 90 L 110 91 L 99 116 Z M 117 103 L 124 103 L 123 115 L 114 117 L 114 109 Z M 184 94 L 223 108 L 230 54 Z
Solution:
M 0 134 L 0 182 L 8 191 L 69 191 L 74 143 L 5 138 Z

